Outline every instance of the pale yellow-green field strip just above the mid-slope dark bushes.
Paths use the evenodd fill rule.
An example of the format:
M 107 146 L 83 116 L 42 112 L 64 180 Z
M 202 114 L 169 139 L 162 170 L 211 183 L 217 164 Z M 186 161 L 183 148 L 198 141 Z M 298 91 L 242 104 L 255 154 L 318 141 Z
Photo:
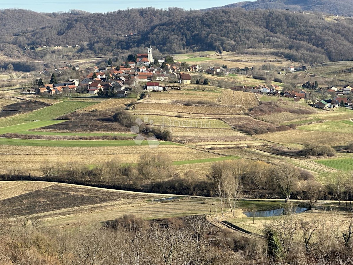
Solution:
M 148 117 L 153 120 L 153 125 L 162 125 L 164 127 L 185 127 L 185 128 L 231 128 L 222 120 L 216 119 L 189 119 L 157 115 L 137 115 L 141 119 Z

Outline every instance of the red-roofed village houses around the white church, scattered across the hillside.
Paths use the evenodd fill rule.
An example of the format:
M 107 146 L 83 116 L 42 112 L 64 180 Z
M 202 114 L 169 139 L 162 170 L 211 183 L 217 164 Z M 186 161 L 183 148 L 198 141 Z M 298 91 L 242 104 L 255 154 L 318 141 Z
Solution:
M 86 67 L 81 70 L 83 79 L 69 79 L 64 83 L 43 84 L 37 89 L 30 89 L 30 93 L 37 94 L 62 94 L 62 93 L 88 93 L 99 96 L 108 97 L 126 97 L 133 87 L 139 87 L 146 91 L 161 92 L 169 89 L 180 89 L 175 84 L 191 84 L 196 82 L 199 84 L 202 80 L 193 80 L 191 73 L 199 72 L 214 76 L 227 76 L 229 73 L 242 73 L 246 69 L 234 67 L 228 69 L 213 66 L 203 68 L 199 65 L 188 65 L 185 62 L 176 61 L 167 63 L 165 60 L 154 60 L 152 48 L 148 48 L 147 53 L 139 53 L 135 55 L 135 61 L 126 61 L 119 66 L 104 67 Z M 61 67 L 56 69 L 57 72 L 67 70 L 69 67 Z M 77 67 L 78 68 L 78 67 Z M 78 68 L 79 69 L 79 68 Z M 77 69 L 77 70 L 78 70 Z M 278 73 L 304 71 L 305 66 L 288 66 L 287 68 L 278 69 Z M 207 79 L 205 79 L 207 80 Z M 160 82 L 174 83 L 170 86 L 163 86 Z M 207 84 L 207 83 L 203 83 Z M 243 92 L 251 92 L 268 96 L 282 96 L 293 98 L 294 100 L 309 99 L 312 91 L 323 95 L 321 100 L 312 98 L 312 106 L 316 108 L 328 109 L 337 106 L 351 107 L 352 99 L 349 95 L 353 93 L 353 87 L 346 85 L 343 87 L 332 86 L 327 89 L 319 88 L 317 83 L 307 82 L 302 85 L 303 89 L 286 90 L 276 84 L 259 84 L 258 86 L 239 86 L 231 87 L 231 90 L 239 90 Z M 330 99 L 325 99 L 326 95 L 331 95 Z

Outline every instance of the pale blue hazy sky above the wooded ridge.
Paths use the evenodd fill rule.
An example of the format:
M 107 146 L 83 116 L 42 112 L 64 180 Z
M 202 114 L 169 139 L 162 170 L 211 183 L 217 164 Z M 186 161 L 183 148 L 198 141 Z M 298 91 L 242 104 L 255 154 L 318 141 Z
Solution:
M 241 0 L 14 0 L 4 1 L 1 0 L 0 8 L 22 8 L 29 9 L 37 12 L 56 12 L 68 11 L 70 9 L 85 10 L 88 12 L 109 12 L 119 9 L 135 8 L 135 7 L 148 7 L 153 6 L 156 8 L 166 8 L 169 6 L 180 7 L 185 9 L 203 9 L 215 6 L 224 6 Z

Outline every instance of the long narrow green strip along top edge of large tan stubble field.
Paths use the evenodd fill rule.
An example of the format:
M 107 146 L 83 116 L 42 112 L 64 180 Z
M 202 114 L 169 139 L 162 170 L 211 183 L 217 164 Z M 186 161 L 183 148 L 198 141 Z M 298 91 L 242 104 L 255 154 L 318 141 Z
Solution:
M 152 145 L 180 145 L 173 142 L 151 141 Z M 18 146 L 53 146 L 53 147 L 103 147 L 103 146 L 136 146 L 133 140 L 28 140 L 0 138 L 0 145 L 18 145 Z M 142 145 L 148 145 L 144 140 Z

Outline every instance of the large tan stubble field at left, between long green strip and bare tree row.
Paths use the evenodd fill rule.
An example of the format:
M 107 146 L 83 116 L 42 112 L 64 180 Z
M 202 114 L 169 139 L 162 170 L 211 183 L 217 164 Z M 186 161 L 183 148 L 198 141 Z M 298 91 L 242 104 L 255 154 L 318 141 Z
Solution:
M 121 147 L 0 146 L 0 148 L 0 173 L 15 170 L 30 172 L 34 175 L 41 175 L 41 167 L 47 161 L 62 164 L 78 161 L 85 165 L 95 165 L 117 159 L 121 163 L 136 163 L 140 155 L 144 153 L 168 154 L 173 161 L 219 157 L 216 154 L 175 145 L 163 145 L 155 149 L 137 145 Z

